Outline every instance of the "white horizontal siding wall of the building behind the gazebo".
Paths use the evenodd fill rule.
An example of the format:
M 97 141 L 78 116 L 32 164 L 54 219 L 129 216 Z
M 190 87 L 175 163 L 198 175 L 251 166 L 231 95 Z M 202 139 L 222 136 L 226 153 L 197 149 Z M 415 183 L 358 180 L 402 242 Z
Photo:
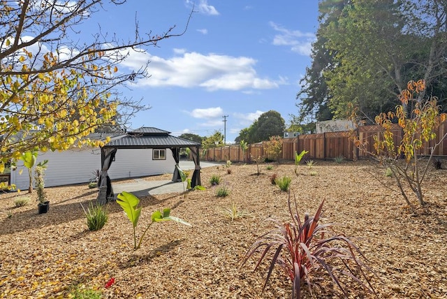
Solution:
M 101 168 L 100 149 L 71 149 L 65 152 L 39 153 L 37 163 L 48 160 L 45 170 L 45 187 L 89 182 L 92 172 Z M 113 179 L 161 175 L 173 173 L 175 161 L 170 149 L 166 149 L 166 160 L 152 160 L 152 149 L 118 149 L 115 161 L 110 166 L 109 176 Z M 22 174 L 20 175 L 20 170 Z M 34 172 L 33 172 L 34 176 Z M 25 190 L 29 186 L 28 169 L 22 161 L 11 171 L 11 184 Z

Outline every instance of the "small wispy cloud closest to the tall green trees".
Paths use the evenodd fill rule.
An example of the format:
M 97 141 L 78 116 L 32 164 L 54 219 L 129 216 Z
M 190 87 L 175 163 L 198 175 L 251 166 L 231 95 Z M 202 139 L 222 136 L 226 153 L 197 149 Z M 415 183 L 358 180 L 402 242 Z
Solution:
M 270 22 L 269 24 L 275 31 L 279 32 L 273 38 L 273 45 L 291 46 L 291 51 L 297 52 L 301 55 L 311 54 L 312 42 L 316 39 L 315 34 L 312 32 L 301 32 L 299 30 L 292 31 L 281 27 L 274 22 Z

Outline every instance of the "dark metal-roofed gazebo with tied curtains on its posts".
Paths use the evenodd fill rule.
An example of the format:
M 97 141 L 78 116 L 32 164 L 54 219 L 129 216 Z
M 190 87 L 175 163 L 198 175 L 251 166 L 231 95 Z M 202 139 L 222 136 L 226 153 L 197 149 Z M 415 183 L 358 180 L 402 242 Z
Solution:
M 124 135 L 112 138 L 112 140 L 101 147 L 101 173 L 98 180 L 98 203 L 104 204 L 115 198 L 112 183 L 108 176 L 108 170 L 115 161 L 118 149 L 170 149 L 175 160 L 173 182 L 181 182 L 177 166 L 179 165 L 180 149 L 189 147 L 194 161 L 194 172 L 191 179 L 191 187 L 200 185 L 200 143 L 169 135 L 170 132 L 153 127 L 142 127 L 129 131 Z

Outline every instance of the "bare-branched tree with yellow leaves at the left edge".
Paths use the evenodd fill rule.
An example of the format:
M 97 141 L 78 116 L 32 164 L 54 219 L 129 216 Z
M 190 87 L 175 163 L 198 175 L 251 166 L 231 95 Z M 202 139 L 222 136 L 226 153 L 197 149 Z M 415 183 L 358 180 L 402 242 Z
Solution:
M 76 25 L 103 9 L 102 2 L 0 0 L 0 173 L 30 150 L 101 146 L 89 133 L 112 123 L 119 108 L 131 113 L 144 108 L 113 96 L 117 86 L 148 75 L 146 66 L 118 71 L 129 52 L 124 50 L 154 46 L 184 31 L 173 34 L 170 27 L 141 37 L 135 26 L 129 42 L 103 34 L 91 43 L 73 41 Z

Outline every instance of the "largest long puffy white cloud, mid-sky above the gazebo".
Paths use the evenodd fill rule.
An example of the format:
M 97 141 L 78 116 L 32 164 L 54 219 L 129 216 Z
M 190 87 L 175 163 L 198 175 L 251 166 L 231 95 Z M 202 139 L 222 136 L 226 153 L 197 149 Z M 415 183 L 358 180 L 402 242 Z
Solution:
M 149 64 L 150 78 L 136 82 L 134 87 L 203 87 L 210 91 L 219 89 L 247 90 L 274 89 L 284 85 L 283 78 L 259 78 L 254 69 L 256 60 L 251 57 L 233 57 L 221 54 L 200 54 L 174 50 L 177 55 L 168 59 L 152 56 L 144 51 L 131 50 L 122 66 L 138 70 Z

